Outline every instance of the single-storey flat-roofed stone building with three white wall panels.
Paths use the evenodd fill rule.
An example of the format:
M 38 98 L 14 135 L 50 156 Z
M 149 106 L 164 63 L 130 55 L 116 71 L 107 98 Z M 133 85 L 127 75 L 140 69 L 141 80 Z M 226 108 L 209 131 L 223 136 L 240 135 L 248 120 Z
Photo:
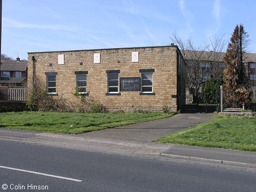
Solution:
M 49 95 L 75 102 L 78 86 L 110 111 L 177 111 L 185 103 L 185 62 L 174 45 L 29 52 L 28 84 L 33 73 Z

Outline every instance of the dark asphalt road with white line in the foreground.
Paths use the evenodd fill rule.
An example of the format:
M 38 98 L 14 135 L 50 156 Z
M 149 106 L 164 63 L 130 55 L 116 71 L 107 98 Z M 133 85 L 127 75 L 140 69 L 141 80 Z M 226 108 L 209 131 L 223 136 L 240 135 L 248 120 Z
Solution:
M 33 191 L 35 186 L 40 191 L 234 192 L 256 188 L 255 169 L 8 140 L 0 140 L 0 147 L 0 191 Z

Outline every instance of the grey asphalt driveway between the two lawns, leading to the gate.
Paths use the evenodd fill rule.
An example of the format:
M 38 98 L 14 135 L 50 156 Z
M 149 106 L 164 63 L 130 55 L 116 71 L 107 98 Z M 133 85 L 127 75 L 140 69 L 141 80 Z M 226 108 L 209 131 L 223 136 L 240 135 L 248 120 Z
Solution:
M 213 119 L 213 114 L 177 114 L 170 118 L 131 124 L 114 129 L 83 133 L 85 136 L 111 140 L 152 141 Z

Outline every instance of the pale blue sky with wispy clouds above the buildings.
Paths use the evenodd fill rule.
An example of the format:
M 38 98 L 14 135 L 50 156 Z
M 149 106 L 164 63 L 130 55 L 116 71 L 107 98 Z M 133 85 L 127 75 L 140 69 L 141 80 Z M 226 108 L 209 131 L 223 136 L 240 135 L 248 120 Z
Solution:
M 3 0 L 2 53 L 27 59 L 27 52 L 169 45 L 174 31 L 199 46 L 220 34 L 229 41 L 239 23 L 256 53 L 255 8 L 255 0 Z

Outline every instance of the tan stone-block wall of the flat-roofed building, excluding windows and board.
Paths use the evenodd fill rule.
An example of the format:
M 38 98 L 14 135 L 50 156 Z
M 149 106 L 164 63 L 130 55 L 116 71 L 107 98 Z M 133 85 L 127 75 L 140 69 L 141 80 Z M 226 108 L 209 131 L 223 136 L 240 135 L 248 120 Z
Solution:
M 139 62 L 132 62 L 134 51 L 139 52 Z M 71 102 L 76 102 L 77 98 L 71 94 L 75 92 L 75 71 L 88 71 L 86 89 L 89 97 L 92 97 L 95 102 L 102 103 L 109 110 L 161 111 L 162 107 L 167 105 L 171 110 L 176 111 L 177 99 L 172 98 L 172 95 L 177 95 L 177 52 L 179 52 L 177 46 L 161 46 L 28 53 L 28 85 L 32 81 L 33 61 L 31 57 L 34 56 L 36 77 L 44 85 L 46 84 L 45 72 L 58 72 L 56 76 L 57 97 L 61 96 Z M 93 63 L 94 53 L 100 53 L 100 63 Z M 58 64 L 60 54 L 65 55 L 63 65 Z M 80 65 L 81 62 L 83 65 Z M 106 95 L 108 91 L 106 70 L 120 70 L 120 78 L 141 77 L 140 69 L 155 69 L 153 73 L 155 95 L 140 95 L 140 91 L 120 92 L 120 90 L 121 95 Z M 182 95 L 185 94 L 182 93 Z M 183 100 L 185 102 L 185 97 Z

